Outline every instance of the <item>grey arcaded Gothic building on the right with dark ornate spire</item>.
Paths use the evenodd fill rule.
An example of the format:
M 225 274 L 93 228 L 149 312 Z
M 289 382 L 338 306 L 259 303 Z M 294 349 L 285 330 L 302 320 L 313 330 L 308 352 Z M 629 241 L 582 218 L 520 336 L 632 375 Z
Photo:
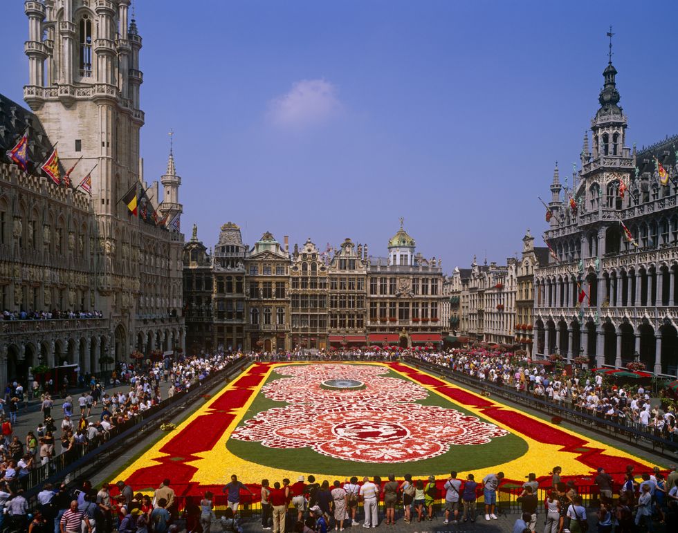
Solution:
M 544 232 L 553 256 L 535 268 L 535 353 L 675 376 L 678 137 L 627 147 L 616 74 L 610 61 L 571 188 L 553 175 Z

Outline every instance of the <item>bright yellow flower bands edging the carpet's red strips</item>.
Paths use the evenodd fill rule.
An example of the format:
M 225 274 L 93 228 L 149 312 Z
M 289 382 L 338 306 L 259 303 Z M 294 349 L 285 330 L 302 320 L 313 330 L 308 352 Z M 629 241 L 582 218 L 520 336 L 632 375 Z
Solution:
M 277 468 L 272 468 L 272 467 L 266 467 L 262 465 L 258 465 L 255 462 L 250 462 L 248 460 L 244 460 L 243 458 L 240 458 L 239 456 L 234 455 L 228 449 L 226 448 L 226 442 L 228 441 L 228 438 L 230 438 L 230 434 L 237 427 L 239 424 L 240 420 L 246 415 L 250 405 L 252 402 L 255 400 L 257 394 L 262 389 L 262 386 L 266 383 L 266 380 L 268 380 L 268 377 L 271 375 L 271 371 L 273 369 L 277 368 L 278 366 L 289 366 L 291 364 L 308 364 L 304 362 L 285 362 L 285 363 L 277 363 L 277 364 L 271 364 L 271 367 L 268 370 L 268 373 L 264 375 L 262 378 L 262 382 L 256 386 L 253 387 L 253 394 L 250 396 L 248 402 L 242 406 L 239 409 L 233 409 L 232 411 L 229 411 L 229 413 L 234 413 L 236 417 L 234 418 L 233 422 L 230 424 L 228 429 L 223 433 L 221 438 L 219 439 L 219 442 L 217 442 L 217 445 L 215 445 L 214 449 L 211 451 L 205 452 L 205 453 L 196 453 L 196 456 L 199 456 L 199 460 L 194 460 L 189 462 L 189 464 L 192 464 L 194 467 L 197 467 L 198 471 L 196 472 L 194 478 L 192 481 L 198 482 L 201 485 L 221 485 L 221 484 L 226 484 L 230 481 L 230 476 L 231 474 L 237 474 L 238 478 L 243 482 L 243 483 L 261 483 L 261 480 L 264 478 L 268 478 L 270 480 L 281 480 L 282 478 L 290 478 L 292 480 L 295 480 L 297 476 L 301 475 L 308 475 L 309 471 L 308 470 L 303 470 L 303 471 L 289 471 L 289 470 L 282 470 L 282 469 L 277 469 Z M 346 364 L 346 362 L 342 362 L 342 364 Z M 365 362 L 351 362 L 351 364 L 366 364 Z M 369 364 L 380 364 L 383 366 L 387 366 L 383 363 L 369 363 Z M 246 373 L 252 368 L 250 366 Z M 389 367 L 391 370 L 396 371 L 394 368 Z M 411 367 L 410 367 L 411 368 Z M 413 368 L 413 370 L 415 370 Z M 416 381 L 416 377 L 412 377 L 407 375 L 406 373 L 396 371 L 397 373 L 401 374 L 405 379 L 412 380 L 414 382 Z M 246 373 L 242 374 L 245 375 Z M 511 460 L 509 462 L 505 462 L 501 465 L 495 465 L 493 467 L 487 467 L 484 469 L 482 474 L 487 474 L 488 472 L 497 472 L 497 471 L 503 471 L 504 475 L 508 479 L 513 479 L 513 480 L 520 480 L 526 476 L 528 472 L 535 471 L 538 476 L 543 476 L 546 475 L 553 466 L 559 465 L 562 467 L 563 472 L 567 474 L 568 476 L 571 475 L 586 475 L 586 474 L 591 474 L 592 470 L 587 467 L 586 465 L 583 465 L 583 463 L 579 462 L 576 458 L 578 456 L 578 453 L 573 453 L 573 452 L 567 452 L 567 451 L 561 451 L 560 446 L 558 445 L 549 445 L 549 444 L 544 444 L 542 442 L 538 442 L 536 440 L 533 440 L 532 438 L 529 438 L 522 433 L 520 433 L 520 428 L 516 427 L 508 427 L 506 424 L 502 424 L 501 422 L 497 422 L 492 419 L 491 415 L 489 414 L 484 414 L 481 409 L 477 409 L 473 406 L 466 405 L 466 404 L 460 404 L 459 402 L 455 402 L 451 398 L 448 398 L 446 395 L 439 393 L 436 391 L 432 386 L 428 386 L 425 384 L 421 384 L 417 382 L 420 386 L 423 386 L 425 389 L 428 389 L 430 393 L 432 394 L 437 394 L 441 396 L 442 398 L 445 398 L 448 402 L 451 404 L 456 404 L 467 411 L 472 412 L 473 414 L 477 415 L 479 418 L 489 420 L 496 424 L 499 427 L 502 427 L 506 429 L 506 431 L 510 431 L 511 433 L 514 433 L 520 438 L 524 439 L 525 442 L 527 442 L 529 449 L 527 453 L 524 454 L 524 456 L 520 458 L 516 458 L 514 460 Z M 446 382 L 446 384 L 450 386 L 449 383 Z M 163 437 L 161 440 L 156 442 L 155 445 L 153 445 L 150 449 L 148 449 L 143 456 L 138 458 L 132 465 L 130 465 L 125 471 L 122 471 L 122 474 L 118 476 L 117 479 L 126 479 L 127 477 L 131 476 L 135 471 L 138 469 L 144 468 L 144 467 L 150 467 L 154 466 L 157 464 L 157 461 L 154 460 L 155 458 L 161 458 L 163 456 L 167 456 L 167 453 L 161 453 L 160 449 L 165 445 L 166 442 L 168 442 L 172 437 L 176 434 L 176 431 L 183 431 L 183 429 L 192 422 L 195 418 L 199 417 L 200 415 L 207 414 L 212 406 L 212 403 L 219 398 L 219 395 L 221 395 L 224 391 L 227 391 L 228 389 L 232 388 L 232 384 L 225 386 L 217 395 L 214 395 L 214 400 L 212 402 L 208 402 L 205 405 L 201 406 L 200 409 L 198 409 L 195 413 L 190 415 L 184 422 L 182 422 L 175 431 L 170 432 L 169 435 Z M 461 389 L 461 387 L 457 387 L 460 390 L 475 395 L 477 398 L 482 398 L 479 395 L 476 395 L 475 393 L 472 393 L 468 391 L 468 389 Z M 504 409 L 512 409 L 508 406 L 505 406 L 504 404 L 501 404 L 499 402 L 493 402 L 493 400 L 489 400 L 488 398 L 482 398 L 484 401 L 489 401 L 492 402 L 495 406 L 497 407 L 502 407 Z M 538 420 L 542 424 L 548 424 L 548 425 L 553 425 L 550 424 L 550 422 L 547 422 L 545 420 L 542 420 L 541 418 L 535 417 L 533 415 L 529 415 L 528 413 L 524 413 L 524 411 L 520 411 L 522 414 L 529 416 L 530 418 L 533 418 L 534 420 Z M 560 431 L 566 431 L 562 427 L 558 427 Z M 613 453 L 614 456 L 618 456 L 620 458 L 627 458 L 629 460 L 634 460 L 637 462 L 646 462 L 642 458 L 632 456 L 629 453 L 625 453 L 619 449 L 616 449 L 614 447 L 611 447 L 609 445 L 605 445 L 602 442 L 598 442 L 597 440 L 592 440 L 588 439 L 585 436 L 581 436 L 578 433 L 574 433 L 576 436 L 583 438 L 583 440 L 587 441 L 586 446 L 587 447 L 592 447 L 592 448 L 600 448 L 604 449 L 607 453 Z M 275 453 L 275 451 L 271 451 L 271 453 Z M 453 468 L 454 465 L 450 464 L 450 468 Z M 347 470 L 350 469 L 350 465 L 347 465 Z M 477 472 L 468 472 L 468 473 L 473 473 L 479 475 L 481 473 Z M 332 478 L 339 478 L 339 479 L 344 479 L 346 476 L 353 476 L 353 475 L 363 475 L 362 472 L 356 472 L 356 471 L 342 471 L 342 472 L 322 472 L 322 473 L 317 473 L 314 474 L 316 478 L 320 477 L 332 477 Z M 435 476 L 448 476 L 449 472 L 432 472 L 433 475 Z M 462 476 L 462 474 L 466 474 L 466 472 L 459 473 L 459 476 Z M 111 480 L 113 481 L 113 480 Z

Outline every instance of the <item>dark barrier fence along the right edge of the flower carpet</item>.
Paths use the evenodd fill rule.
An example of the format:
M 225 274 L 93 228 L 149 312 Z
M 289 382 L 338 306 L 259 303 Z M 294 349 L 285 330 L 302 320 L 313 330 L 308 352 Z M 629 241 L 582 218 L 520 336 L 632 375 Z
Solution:
M 678 453 L 677 441 L 654 435 L 649 431 L 643 431 L 642 429 L 636 429 L 627 424 L 607 420 L 604 416 L 591 414 L 582 409 L 574 409 L 558 402 L 537 398 L 529 393 L 516 391 L 515 388 L 510 386 L 479 380 L 477 377 L 452 371 L 451 368 L 446 366 L 424 362 L 412 357 L 405 357 L 404 359 L 408 364 L 412 364 L 412 366 L 416 367 L 421 366 L 425 371 L 430 373 L 437 373 L 452 381 L 461 382 L 462 384 L 472 386 L 481 391 L 488 391 L 500 398 L 524 404 L 531 407 L 531 409 L 542 411 L 548 415 L 559 416 L 562 420 L 567 422 L 586 427 L 587 429 L 592 429 L 598 433 L 604 433 L 616 440 L 627 442 L 634 447 L 639 447 L 666 456 L 666 458 L 669 458 L 670 460 L 675 460 L 675 453 Z

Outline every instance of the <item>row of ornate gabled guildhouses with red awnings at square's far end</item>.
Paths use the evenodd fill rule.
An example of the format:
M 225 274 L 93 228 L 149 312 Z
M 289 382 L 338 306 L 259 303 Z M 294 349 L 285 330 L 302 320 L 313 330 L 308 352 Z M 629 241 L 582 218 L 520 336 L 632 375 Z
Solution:
M 183 251 L 190 353 L 442 342 L 440 261 L 416 254 L 402 227 L 384 258 L 351 239 L 324 252 L 308 239 L 290 254 L 287 237 L 282 246 L 270 232 L 247 250 L 232 223 L 212 252 L 196 231 Z

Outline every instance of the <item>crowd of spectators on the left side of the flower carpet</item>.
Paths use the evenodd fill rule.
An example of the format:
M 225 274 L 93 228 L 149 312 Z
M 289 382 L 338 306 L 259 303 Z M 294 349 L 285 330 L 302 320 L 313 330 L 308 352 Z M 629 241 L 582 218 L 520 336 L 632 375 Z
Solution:
M 35 429 L 22 427 L 20 406 L 24 389 L 19 383 L 10 384 L 6 394 L 10 399 L 0 403 L 3 406 L 0 413 L 0 484 L 6 483 L 8 494 L 19 494 L 19 487 L 24 485 L 21 478 L 28 476 L 30 471 L 45 467 L 42 476 L 46 478 L 108 440 L 116 428 L 127 426 L 136 415 L 162 402 L 162 382 L 165 383 L 162 387 L 165 398 L 171 398 L 222 370 L 237 357 L 217 353 L 183 357 L 176 362 L 164 359 L 163 362 L 136 366 L 123 363 L 111 378 L 113 386 L 124 383 L 122 387 L 116 387 L 117 391 L 107 392 L 104 382 L 91 377 L 87 390 L 67 395 L 58 406 L 50 393 L 42 393 L 39 401 L 43 420 Z M 0 498 L 0 515 L 2 507 Z

